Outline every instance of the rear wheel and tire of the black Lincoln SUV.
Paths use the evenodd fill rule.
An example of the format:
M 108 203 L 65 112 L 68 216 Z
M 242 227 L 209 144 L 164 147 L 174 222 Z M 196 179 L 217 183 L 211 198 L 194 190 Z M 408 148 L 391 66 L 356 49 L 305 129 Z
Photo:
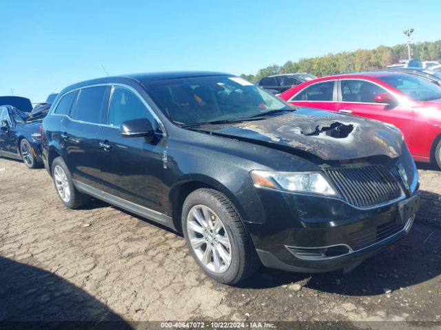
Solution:
M 55 158 L 52 162 L 52 179 L 54 179 L 58 197 L 66 208 L 81 208 L 89 203 L 90 196 L 75 188 L 68 166 L 61 157 Z

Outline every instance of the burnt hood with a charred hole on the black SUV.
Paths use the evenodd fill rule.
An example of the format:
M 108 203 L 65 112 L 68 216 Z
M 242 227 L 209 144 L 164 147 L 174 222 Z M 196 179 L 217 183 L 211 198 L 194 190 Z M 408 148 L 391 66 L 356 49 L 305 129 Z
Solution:
M 402 134 L 391 125 L 355 115 L 299 108 L 287 115 L 234 124 L 200 126 L 225 137 L 292 148 L 323 160 L 401 154 Z

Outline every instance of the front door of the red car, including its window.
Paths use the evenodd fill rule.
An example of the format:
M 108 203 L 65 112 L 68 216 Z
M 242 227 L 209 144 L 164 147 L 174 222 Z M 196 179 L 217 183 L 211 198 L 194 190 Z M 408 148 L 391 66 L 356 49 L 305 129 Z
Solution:
M 411 144 L 413 109 L 400 104 L 376 103 L 377 94 L 388 93 L 384 87 L 368 80 L 339 80 L 338 111 L 380 120 L 397 126 L 407 144 Z

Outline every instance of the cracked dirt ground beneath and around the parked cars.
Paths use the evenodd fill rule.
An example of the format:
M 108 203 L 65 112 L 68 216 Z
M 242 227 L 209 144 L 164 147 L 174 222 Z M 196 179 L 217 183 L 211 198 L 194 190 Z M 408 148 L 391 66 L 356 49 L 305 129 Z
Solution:
M 440 329 L 441 171 L 419 168 L 422 205 L 410 234 L 351 274 L 262 269 L 229 287 L 198 269 L 182 236 L 101 201 L 68 210 L 44 169 L 0 158 L 0 321 L 317 320 L 351 329 L 406 321 L 376 325 Z

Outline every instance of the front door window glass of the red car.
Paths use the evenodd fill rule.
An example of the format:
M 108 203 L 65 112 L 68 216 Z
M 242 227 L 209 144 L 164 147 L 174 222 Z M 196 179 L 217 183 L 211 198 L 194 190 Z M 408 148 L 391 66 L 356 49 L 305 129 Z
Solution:
M 377 94 L 386 92 L 365 80 L 342 80 L 342 102 L 375 103 Z

